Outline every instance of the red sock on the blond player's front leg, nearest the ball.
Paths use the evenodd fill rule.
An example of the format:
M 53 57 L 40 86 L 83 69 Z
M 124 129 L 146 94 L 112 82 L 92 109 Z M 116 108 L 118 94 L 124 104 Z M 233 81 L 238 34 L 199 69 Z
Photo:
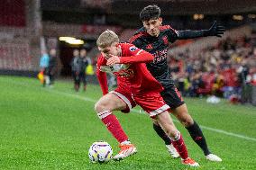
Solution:
M 99 112 L 99 118 L 104 122 L 107 130 L 114 136 L 119 143 L 128 140 L 127 135 L 124 133 L 123 128 L 117 118 L 110 111 Z

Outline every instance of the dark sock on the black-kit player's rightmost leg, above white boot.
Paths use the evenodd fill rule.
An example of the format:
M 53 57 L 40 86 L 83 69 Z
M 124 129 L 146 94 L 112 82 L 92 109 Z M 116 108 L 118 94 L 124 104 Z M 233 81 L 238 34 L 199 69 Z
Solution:
M 205 156 L 209 155 L 211 152 L 209 151 L 207 144 L 206 144 L 206 139 L 203 135 L 202 130 L 198 126 L 197 122 L 194 121 L 194 124 L 186 127 L 188 130 L 190 136 L 192 139 L 197 143 L 197 145 L 204 151 Z

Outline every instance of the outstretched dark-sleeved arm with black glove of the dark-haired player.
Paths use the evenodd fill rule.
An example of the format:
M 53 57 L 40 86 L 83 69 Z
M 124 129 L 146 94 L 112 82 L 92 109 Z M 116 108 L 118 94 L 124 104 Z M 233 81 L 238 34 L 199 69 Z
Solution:
M 207 37 L 207 36 L 216 36 L 222 37 L 224 34 L 224 26 L 219 25 L 216 21 L 213 23 L 210 29 L 208 30 L 200 30 L 200 31 L 178 31 L 178 40 L 187 40 L 198 37 Z

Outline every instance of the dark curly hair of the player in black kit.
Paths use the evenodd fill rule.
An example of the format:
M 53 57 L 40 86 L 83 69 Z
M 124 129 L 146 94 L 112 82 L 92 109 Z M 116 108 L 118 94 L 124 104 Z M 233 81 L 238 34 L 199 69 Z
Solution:
M 160 7 L 156 4 L 151 4 L 142 9 L 140 13 L 140 19 L 142 22 L 155 20 L 160 17 Z

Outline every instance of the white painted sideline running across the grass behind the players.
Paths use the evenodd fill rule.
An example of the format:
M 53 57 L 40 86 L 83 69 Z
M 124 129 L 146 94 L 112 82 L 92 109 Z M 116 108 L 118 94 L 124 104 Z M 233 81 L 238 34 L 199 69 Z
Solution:
M 91 102 L 91 103 L 96 103 L 96 100 L 88 98 L 88 97 L 82 97 L 82 96 L 79 96 L 79 95 L 76 95 L 76 94 L 68 94 L 68 93 L 65 93 L 65 92 L 59 92 L 59 91 L 53 90 L 53 89 L 50 89 L 49 91 L 50 92 L 54 92 L 56 94 L 62 94 L 62 95 L 78 98 L 78 99 L 81 99 L 81 100 L 84 100 L 84 101 L 88 101 L 88 102 Z M 136 112 L 136 113 L 140 113 L 140 114 L 145 114 L 144 111 L 142 112 L 142 111 L 138 111 L 138 110 L 135 110 L 135 109 L 133 109 L 132 112 Z M 173 121 L 178 122 L 177 120 L 173 120 Z M 218 129 L 210 128 L 210 127 L 203 126 L 203 125 L 199 125 L 199 126 L 202 129 L 204 129 L 204 130 L 215 131 L 217 133 L 222 133 L 222 134 L 225 134 L 225 135 L 228 135 L 228 136 L 232 136 L 232 137 L 237 137 L 237 138 L 240 138 L 240 139 L 247 139 L 247 140 L 256 141 L 256 139 L 251 138 L 251 137 L 246 137 L 246 136 L 243 136 L 243 135 L 235 134 L 235 133 L 224 131 L 224 130 L 218 130 Z

